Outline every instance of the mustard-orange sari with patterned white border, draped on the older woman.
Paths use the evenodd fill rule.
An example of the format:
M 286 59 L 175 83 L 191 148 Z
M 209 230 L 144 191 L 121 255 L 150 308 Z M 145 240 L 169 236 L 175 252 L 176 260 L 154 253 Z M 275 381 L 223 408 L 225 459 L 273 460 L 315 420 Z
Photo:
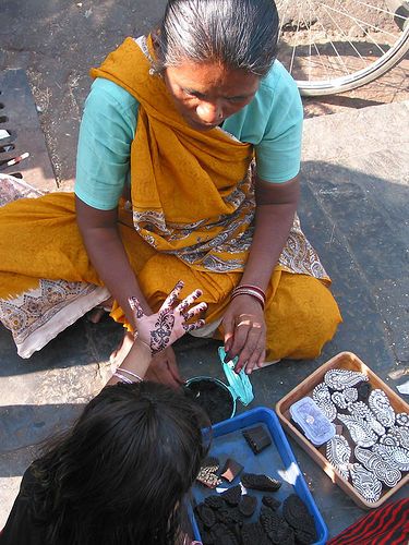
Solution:
M 139 45 L 128 38 L 92 71 L 140 102 L 131 146 L 131 203 L 120 204 L 119 229 L 153 308 L 183 279 L 185 293 L 203 290 L 206 320 L 217 323 L 251 246 L 253 149 L 221 129 L 191 129 L 160 76 L 151 74 L 152 55 L 149 39 Z M 23 356 L 108 296 L 82 243 L 73 194 L 5 206 L 0 252 L 0 320 L 12 330 Z M 320 353 L 341 320 L 328 283 L 296 218 L 267 290 L 267 358 Z M 125 324 L 117 304 L 111 316 Z

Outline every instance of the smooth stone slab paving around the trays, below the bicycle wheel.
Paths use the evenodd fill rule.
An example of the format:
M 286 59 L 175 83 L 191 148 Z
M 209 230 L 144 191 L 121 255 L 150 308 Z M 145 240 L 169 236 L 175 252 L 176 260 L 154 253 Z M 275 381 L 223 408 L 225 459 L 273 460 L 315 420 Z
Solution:
M 408 195 L 409 102 L 305 121 L 300 216 L 333 278 L 344 324 L 321 358 L 285 361 L 252 375 L 251 407 L 275 403 L 340 351 L 356 352 L 395 388 L 409 370 Z M 40 353 L 15 355 L 0 329 L 0 526 L 36 445 L 63 429 L 107 379 L 121 327 L 82 319 Z M 222 378 L 218 342 L 188 338 L 177 353 L 187 377 Z M 395 376 L 393 374 L 393 376 Z M 294 444 L 294 452 L 330 534 L 362 510 Z M 408 494 L 408 487 L 396 497 Z

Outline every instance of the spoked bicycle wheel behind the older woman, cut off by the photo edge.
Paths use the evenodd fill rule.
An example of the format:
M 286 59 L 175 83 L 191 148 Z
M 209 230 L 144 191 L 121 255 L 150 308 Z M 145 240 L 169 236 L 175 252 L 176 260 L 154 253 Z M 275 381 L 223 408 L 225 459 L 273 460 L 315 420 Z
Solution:
M 409 50 L 409 4 L 401 0 L 277 0 L 278 59 L 303 96 L 354 89 Z

